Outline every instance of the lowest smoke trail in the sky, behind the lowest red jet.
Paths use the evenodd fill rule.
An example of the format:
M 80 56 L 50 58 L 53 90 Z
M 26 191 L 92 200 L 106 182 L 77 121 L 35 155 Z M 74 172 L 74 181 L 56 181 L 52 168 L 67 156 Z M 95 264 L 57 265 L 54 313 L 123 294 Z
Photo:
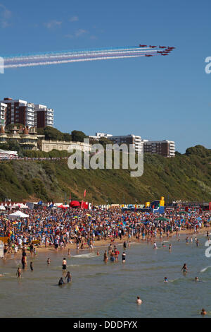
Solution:
M 125 59 L 125 58 L 136 58 L 145 57 L 144 54 L 140 55 L 122 55 L 117 57 L 96 57 L 89 59 L 70 59 L 70 60 L 58 60 L 58 61 L 44 61 L 44 62 L 31 62 L 26 64 L 7 64 L 4 66 L 5 69 L 8 68 L 20 68 L 20 67 L 31 67 L 31 66 L 47 66 L 49 64 L 68 64 L 70 62 L 80 62 L 80 61 L 96 61 L 96 60 L 108 60 L 108 59 Z

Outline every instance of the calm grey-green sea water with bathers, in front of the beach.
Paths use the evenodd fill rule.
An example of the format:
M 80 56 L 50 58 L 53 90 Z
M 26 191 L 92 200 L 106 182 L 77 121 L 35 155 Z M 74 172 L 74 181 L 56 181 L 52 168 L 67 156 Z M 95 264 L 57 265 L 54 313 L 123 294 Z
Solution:
M 199 246 L 178 242 L 172 237 L 158 249 L 153 244 L 133 243 L 126 249 L 122 263 L 122 244 L 119 261 L 103 263 L 103 252 L 108 246 L 71 251 L 67 249 L 27 255 L 27 270 L 23 278 L 15 276 L 20 259 L 0 261 L 0 316 L 1 317 L 198 317 L 204 307 L 211 312 L 211 258 L 205 256 L 207 237 L 198 236 Z M 167 240 L 165 238 L 165 240 Z M 172 251 L 168 250 L 172 244 Z M 66 257 L 72 283 L 58 286 L 63 257 Z M 46 263 L 50 257 L 51 264 Z M 34 271 L 30 271 L 33 261 Z M 186 263 L 188 273 L 181 273 Z M 195 282 L 198 276 L 200 282 Z M 167 277 L 168 283 L 164 283 Z M 143 303 L 136 304 L 139 296 Z

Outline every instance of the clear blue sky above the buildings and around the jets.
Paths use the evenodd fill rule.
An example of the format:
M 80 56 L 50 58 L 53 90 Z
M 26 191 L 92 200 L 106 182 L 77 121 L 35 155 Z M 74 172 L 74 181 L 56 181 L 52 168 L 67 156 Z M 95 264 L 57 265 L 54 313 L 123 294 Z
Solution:
M 8 69 L 0 98 L 55 109 L 61 131 L 170 139 L 211 148 L 210 0 L 0 0 L 0 55 L 168 45 L 169 57 Z

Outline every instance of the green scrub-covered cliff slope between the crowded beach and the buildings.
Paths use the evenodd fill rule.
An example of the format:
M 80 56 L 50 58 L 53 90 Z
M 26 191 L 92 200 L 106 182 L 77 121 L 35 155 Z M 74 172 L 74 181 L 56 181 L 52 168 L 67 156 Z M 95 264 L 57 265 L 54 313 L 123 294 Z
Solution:
M 0 200 L 60 201 L 82 199 L 98 204 L 165 200 L 211 201 L 211 153 L 189 148 L 185 155 L 144 155 L 142 177 L 129 170 L 69 170 L 67 160 L 0 162 Z M 168 198 L 167 198 L 168 197 Z

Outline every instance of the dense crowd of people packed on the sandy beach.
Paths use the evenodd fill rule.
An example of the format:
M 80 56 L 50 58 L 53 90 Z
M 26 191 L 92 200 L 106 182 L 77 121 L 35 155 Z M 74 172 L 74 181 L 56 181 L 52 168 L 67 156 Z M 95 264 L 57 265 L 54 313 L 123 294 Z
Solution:
M 184 230 L 196 233 L 208 227 L 211 221 L 210 211 L 170 211 L 155 215 L 122 211 L 120 208 L 38 208 L 28 210 L 28 218 L 16 220 L 10 220 L 9 213 L 0 215 L 0 240 L 1 237 L 7 239 L 5 256 L 17 254 L 20 249 L 28 249 L 32 256 L 36 256 L 37 247 L 53 247 L 58 251 L 68 244 L 75 244 L 76 249 L 93 249 L 94 243 L 100 240 L 109 240 L 112 244 L 117 239 L 124 239 L 126 246 L 132 238 L 137 242 L 154 242 L 156 247 L 155 239 L 158 237 L 170 237 L 173 233 L 179 235 Z M 108 255 L 111 261 L 116 261 L 117 249 L 108 249 Z

